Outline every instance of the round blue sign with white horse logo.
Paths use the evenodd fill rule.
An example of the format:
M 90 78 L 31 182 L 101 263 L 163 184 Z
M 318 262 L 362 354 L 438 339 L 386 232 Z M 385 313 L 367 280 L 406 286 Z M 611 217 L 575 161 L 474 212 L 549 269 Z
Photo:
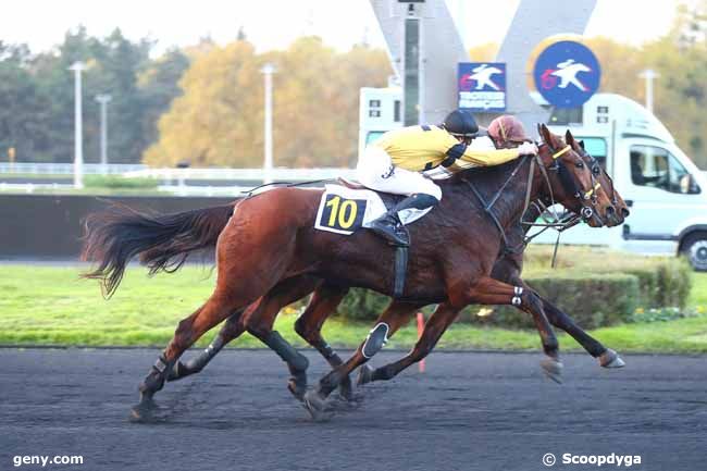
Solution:
M 535 61 L 535 88 L 557 108 L 576 108 L 599 88 L 601 67 L 584 45 L 559 41 L 545 49 Z

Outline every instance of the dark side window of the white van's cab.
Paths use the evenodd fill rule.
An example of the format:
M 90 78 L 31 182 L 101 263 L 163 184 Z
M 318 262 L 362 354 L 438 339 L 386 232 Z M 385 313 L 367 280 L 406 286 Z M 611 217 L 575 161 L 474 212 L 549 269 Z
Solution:
M 661 147 L 631 146 L 631 181 L 670 193 L 697 194 L 699 186 L 680 161 Z

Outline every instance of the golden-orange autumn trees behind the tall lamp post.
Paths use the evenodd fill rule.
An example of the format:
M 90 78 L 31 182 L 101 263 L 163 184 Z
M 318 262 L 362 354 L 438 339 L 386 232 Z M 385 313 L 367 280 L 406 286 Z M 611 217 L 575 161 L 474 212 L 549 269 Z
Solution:
M 297 39 L 285 51 L 256 54 L 247 41 L 214 48 L 194 61 L 184 95 L 160 120 L 160 140 L 145 161 L 153 165 L 260 166 L 263 154 L 263 77 L 274 75 L 276 165 L 340 166 L 356 160 L 358 97 L 362 86 L 384 86 L 385 52 L 357 46 L 346 53 L 318 37 Z

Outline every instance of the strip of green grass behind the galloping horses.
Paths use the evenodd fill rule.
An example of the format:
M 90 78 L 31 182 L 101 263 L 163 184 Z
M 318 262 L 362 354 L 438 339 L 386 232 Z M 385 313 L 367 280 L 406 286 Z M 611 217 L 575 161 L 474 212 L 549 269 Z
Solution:
M 117 293 L 103 300 L 98 282 L 79 280 L 78 268 L 0 265 L 0 344 L 164 346 L 178 321 L 209 296 L 215 274 L 210 268 L 186 267 L 175 274 L 148 278 L 131 268 Z M 592 332 L 620 351 L 707 352 L 707 274 L 695 274 L 690 309 L 697 315 L 668 322 L 622 324 Z M 571 313 L 570 313 L 571 314 Z M 292 329 L 297 312 L 285 309 L 276 329 L 297 346 L 305 346 Z M 336 347 L 356 347 L 370 324 L 330 319 L 324 336 Z M 199 345 L 208 344 L 213 332 Z M 414 323 L 398 332 L 388 348 L 414 344 Z M 579 349 L 566 335 L 565 350 Z M 249 335 L 233 344 L 261 347 Z M 534 349 L 537 333 L 456 323 L 442 338 L 442 348 Z

